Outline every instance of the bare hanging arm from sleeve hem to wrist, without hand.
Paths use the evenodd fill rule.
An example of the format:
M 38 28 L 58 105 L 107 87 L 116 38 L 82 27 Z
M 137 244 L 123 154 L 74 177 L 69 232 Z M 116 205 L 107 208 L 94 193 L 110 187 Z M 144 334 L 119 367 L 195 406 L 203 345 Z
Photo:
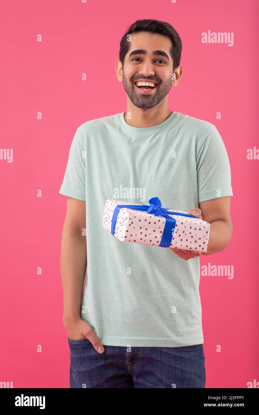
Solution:
M 63 322 L 68 324 L 80 318 L 83 283 L 86 275 L 87 255 L 86 202 L 67 197 L 66 219 L 61 238 L 61 280 L 63 285 Z

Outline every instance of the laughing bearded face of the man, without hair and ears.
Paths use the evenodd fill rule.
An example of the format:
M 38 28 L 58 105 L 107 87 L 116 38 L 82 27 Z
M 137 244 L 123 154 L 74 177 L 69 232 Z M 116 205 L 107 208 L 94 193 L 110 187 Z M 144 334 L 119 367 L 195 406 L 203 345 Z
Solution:
M 122 69 L 125 91 L 136 107 L 153 108 L 166 97 L 172 85 L 171 41 L 161 34 L 139 32 L 131 35 L 129 45 Z M 156 86 L 138 87 L 139 80 L 154 81 Z

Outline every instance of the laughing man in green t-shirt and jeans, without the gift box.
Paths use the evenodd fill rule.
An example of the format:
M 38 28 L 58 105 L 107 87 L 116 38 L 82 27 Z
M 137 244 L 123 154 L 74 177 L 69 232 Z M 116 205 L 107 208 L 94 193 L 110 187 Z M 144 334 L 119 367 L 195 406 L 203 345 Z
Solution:
M 205 387 L 200 253 L 122 243 L 102 227 L 106 199 L 147 205 L 157 196 L 162 207 L 210 223 L 203 255 L 230 242 L 233 193 L 220 134 L 168 107 L 181 49 L 170 24 L 132 24 L 116 62 L 127 113 L 85 122 L 71 144 L 59 191 L 67 196 L 61 277 L 71 388 Z

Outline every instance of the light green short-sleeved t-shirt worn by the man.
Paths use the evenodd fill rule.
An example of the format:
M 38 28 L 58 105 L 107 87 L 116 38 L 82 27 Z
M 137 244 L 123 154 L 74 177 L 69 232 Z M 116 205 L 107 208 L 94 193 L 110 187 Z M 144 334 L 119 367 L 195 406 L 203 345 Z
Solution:
M 225 145 L 210 122 L 173 112 L 154 127 L 123 112 L 83 123 L 73 138 L 62 195 L 86 201 L 87 269 L 81 318 L 104 345 L 203 343 L 200 259 L 120 242 L 102 227 L 106 199 L 188 210 L 232 196 Z

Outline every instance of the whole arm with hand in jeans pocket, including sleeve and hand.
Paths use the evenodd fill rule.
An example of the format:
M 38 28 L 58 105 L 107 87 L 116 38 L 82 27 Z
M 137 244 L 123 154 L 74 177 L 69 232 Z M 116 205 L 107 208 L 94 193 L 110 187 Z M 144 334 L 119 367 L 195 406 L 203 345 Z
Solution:
M 86 276 L 86 146 L 85 135 L 78 127 L 66 166 L 61 195 L 67 196 L 66 219 L 61 239 L 61 280 L 63 286 L 63 323 L 72 340 L 87 338 L 98 353 L 104 347 L 91 325 L 81 319 L 81 300 Z

